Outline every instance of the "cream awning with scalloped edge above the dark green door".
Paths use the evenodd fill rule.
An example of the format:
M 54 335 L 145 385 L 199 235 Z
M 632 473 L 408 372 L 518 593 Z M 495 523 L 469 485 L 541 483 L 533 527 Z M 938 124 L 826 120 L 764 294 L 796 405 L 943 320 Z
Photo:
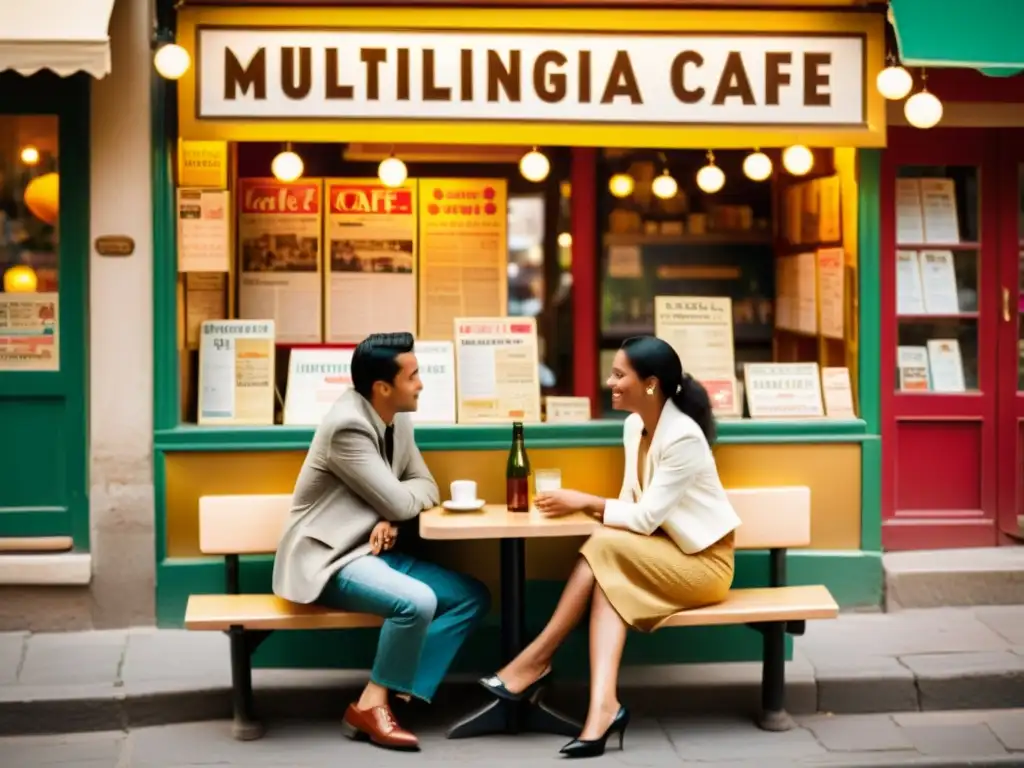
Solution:
M 0 72 L 111 73 L 114 0 L 0 0 Z

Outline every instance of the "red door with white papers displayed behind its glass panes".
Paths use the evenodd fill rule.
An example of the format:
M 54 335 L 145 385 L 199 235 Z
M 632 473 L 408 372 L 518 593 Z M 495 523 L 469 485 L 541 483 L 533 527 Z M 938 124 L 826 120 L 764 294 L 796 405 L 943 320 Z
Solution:
M 888 550 L 997 541 L 994 139 L 984 130 L 889 131 L 881 216 Z

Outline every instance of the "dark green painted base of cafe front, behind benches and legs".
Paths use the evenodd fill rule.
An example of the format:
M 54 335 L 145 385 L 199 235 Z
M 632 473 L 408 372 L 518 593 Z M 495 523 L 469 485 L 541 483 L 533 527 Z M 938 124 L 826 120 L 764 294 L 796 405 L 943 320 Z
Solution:
M 242 567 L 245 592 L 266 592 L 272 558 L 246 558 Z M 791 552 L 791 584 L 824 584 L 844 607 L 877 606 L 882 599 L 882 559 L 864 552 Z M 736 587 L 768 583 L 764 552 L 736 555 Z M 219 558 L 169 559 L 157 568 L 157 623 L 180 627 L 190 594 L 218 593 L 224 589 L 224 566 Z M 535 581 L 526 588 L 527 625 L 536 633 L 551 615 L 561 593 L 559 582 Z M 500 647 L 497 615 L 467 644 L 458 671 L 480 673 L 498 664 Z M 376 630 L 346 632 L 281 632 L 260 648 L 256 663 L 262 667 L 350 668 L 370 666 L 377 645 Z M 696 664 L 749 662 L 761 657 L 760 636 L 745 627 L 674 629 L 652 635 L 633 633 L 627 644 L 627 664 Z M 225 664 L 227 663 L 225 656 Z M 586 628 L 566 642 L 558 659 L 559 671 L 584 674 L 587 669 Z

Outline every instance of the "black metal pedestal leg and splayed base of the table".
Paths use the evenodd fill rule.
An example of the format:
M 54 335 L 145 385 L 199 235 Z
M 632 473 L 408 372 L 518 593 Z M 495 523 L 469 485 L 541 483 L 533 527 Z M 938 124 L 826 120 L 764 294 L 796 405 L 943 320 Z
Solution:
M 526 647 L 526 543 L 523 539 L 501 542 L 502 664 L 508 664 Z M 529 699 L 509 701 L 495 697 L 447 731 L 449 738 L 469 738 L 495 733 L 554 733 L 569 738 L 579 735 L 583 726 L 542 703 L 544 691 Z

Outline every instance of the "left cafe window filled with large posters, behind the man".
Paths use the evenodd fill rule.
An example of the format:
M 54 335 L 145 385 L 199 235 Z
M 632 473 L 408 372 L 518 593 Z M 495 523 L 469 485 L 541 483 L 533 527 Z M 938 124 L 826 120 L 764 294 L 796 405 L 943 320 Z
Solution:
M 523 152 L 182 142 L 182 421 L 306 424 L 315 418 L 310 408 L 296 416 L 290 403 L 319 398 L 311 410 L 322 415 L 337 391 L 302 389 L 299 396 L 297 371 L 319 366 L 327 379 L 347 386 L 345 360 L 368 334 L 408 329 L 418 343 L 451 340 L 455 317 L 534 318 L 542 393 L 571 395 L 568 153 L 549 153 L 547 178 L 531 182 L 519 169 Z M 407 178 L 389 187 L 380 163 L 392 156 Z M 301 174 L 282 180 L 296 159 Z M 210 170 L 216 168 L 220 175 Z M 442 201 L 451 200 L 459 200 L 458 216 L 445 213 Z M 443 216 L 445 226 L 431 225 Z M 501 237 L 490 227 L 498 217 Z M 238 345 L 230 372 L 217 361 L 222 355 L 200 354 L 204 323 L 215 333 L 213 322 L 221 319 L 253 322 L 244 338 L 219 342 Z M 270 350 L 272 374 L 263 377 L 256 360 Z M 251 365 L 240 362 L 245 355 Z M 262 395 L 247 411 L 245 390 L 268 388 L 272 414 Z M 201 392 L 204 414 L 213 418 L 200 418 Z

